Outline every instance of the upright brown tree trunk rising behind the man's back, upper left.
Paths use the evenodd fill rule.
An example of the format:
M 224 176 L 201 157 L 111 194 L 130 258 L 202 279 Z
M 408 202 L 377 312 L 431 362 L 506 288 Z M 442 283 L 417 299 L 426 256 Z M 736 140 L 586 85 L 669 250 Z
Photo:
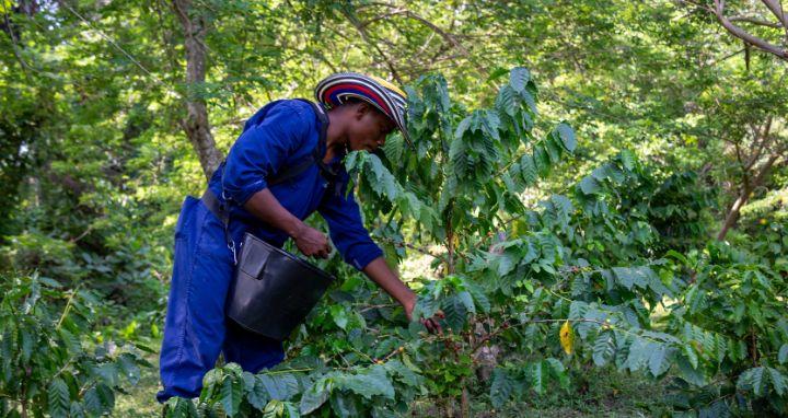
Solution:
M 185 119 L 181 120 L 181 126 L 197 152 L 202 173 L 210 178 L 223 160 L 223 155 L 217 150 L 213 135 L 210 131 L 206 102 L 195 94 L 195 86 L 205 83 L 205 19 L 198 11 L 192 10 L 192 0 L 173 0 L 173 9 L 183 26 L 184 46 L 186 47 L 187 115 Z

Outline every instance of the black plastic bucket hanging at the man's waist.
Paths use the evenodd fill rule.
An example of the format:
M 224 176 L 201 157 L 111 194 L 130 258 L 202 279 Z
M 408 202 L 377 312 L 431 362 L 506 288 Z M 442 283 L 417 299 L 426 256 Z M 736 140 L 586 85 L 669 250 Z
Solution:
M 334 277 L 246 233 L 227 315 L 253 333 L 279 341 L 301 324 Z

